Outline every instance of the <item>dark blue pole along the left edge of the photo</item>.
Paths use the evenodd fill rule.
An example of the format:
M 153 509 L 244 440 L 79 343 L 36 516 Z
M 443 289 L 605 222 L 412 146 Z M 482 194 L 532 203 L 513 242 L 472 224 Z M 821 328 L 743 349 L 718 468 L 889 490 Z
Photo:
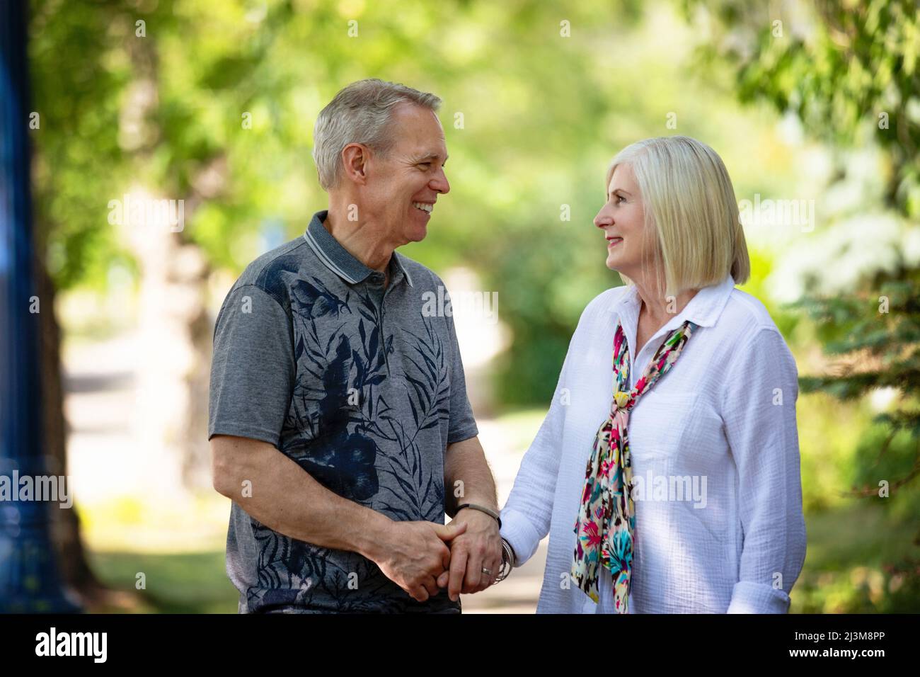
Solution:
M 50 506 L 65 508 L 21 491 L 28 485 L 22 478 L 34 482 L 46 476 L 39 323 L 33 311 L 38 294 L 32 271 L 26 41 L 25 3 L 0 1 L 0 613 L 68 613 L 79 610 L 64 596 L 48 519 Z

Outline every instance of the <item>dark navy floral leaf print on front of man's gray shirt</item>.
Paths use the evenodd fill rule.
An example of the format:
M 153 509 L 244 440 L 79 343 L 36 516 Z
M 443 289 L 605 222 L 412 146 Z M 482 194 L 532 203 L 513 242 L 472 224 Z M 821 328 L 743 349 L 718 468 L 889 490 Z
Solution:
M 395 334 L 381 329 L 384 310 L 360 291 L 350 294 L 354 312 L 315 277 L 292 286 L 294 356 L 303 377 L 295 380 L 288 415 L 298 433 L 282 437 L 282 451 L 339 496 L 391 519 L 443 523 L 443 467 L 432 468 L 425 448 L 431 444 L 426 431 L 450 416 L 449 360 L 432 324 L 443 319 L 423 318 L 420 334 L 404 329 L 402 357 L 391 365 Z M 401 415 L 387 402 L 395 391 L 405 393 Z M 252 522 L 260 548 L 259 586 L 252 592 L 260 604 L 290 603 L 290 590 L 279 591 L 277 600 L 264 590 L 280 587 L 297 589 L 305 601 L 321 592 L 323 600 L 339 600 L 340 611 L 360 611 L 374 608 L 374 589 L 392 585 L 359 554 L 299 542 Z M 358 570 L 360 594 L 347 586 L 348 574 Z

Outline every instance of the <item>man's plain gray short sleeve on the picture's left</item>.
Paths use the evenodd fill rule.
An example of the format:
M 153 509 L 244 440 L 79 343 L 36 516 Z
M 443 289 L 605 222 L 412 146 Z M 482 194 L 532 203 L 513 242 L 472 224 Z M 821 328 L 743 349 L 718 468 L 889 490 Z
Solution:
M 231 289 L 214 327 L 208 439 L 233 435 L 278 447 L 294 375 L 285 310 L 259 286 Z

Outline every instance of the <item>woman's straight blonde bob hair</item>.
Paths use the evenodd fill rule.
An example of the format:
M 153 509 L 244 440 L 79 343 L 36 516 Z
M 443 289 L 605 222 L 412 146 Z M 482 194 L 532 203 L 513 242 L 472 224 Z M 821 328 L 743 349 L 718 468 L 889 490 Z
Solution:
M 751 260 L 738 203 L 716 151 L 689 136 L 638 141 L 613 159 L 604 192 L 620 165 L 636 177 L 650 238 L 645 251 L 655 257 L 647 264 L 663 273 L 655 283 L 662 298 L 717 285 L 727 274 L 738 285 L 747 282 Z

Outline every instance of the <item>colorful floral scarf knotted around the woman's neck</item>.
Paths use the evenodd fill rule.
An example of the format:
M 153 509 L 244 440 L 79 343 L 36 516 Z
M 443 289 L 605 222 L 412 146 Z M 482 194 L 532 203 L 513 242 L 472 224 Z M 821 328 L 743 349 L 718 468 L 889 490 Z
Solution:
M 627 613 L 633 531 L 636 528 L 632 461 L 627 438 L 629 411 L 636 406 L 639 396 L 673 367 L 695 330 L 696 324 L 691 321 L 685 321 L 675 329 L 652 357 L 636 387 L 629 391 L 629 346 L 623 327 L 619 322 L 616 324 L 614 401 L 610 416 L 594 437 L 591 458 L 585 470 L 581 508 L 575 522 L 577 539 L 571 570 L 578 587 L 596 603 L 598 565 L 610 569 L 614 578 L 616 613 Z

